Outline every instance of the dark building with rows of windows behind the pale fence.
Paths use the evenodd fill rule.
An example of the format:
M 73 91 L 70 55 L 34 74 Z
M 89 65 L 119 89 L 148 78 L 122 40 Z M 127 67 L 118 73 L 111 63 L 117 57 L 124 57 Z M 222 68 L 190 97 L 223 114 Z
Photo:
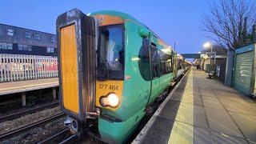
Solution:
M 57 56 L 56 35 L 0 24 L 0 54 Z

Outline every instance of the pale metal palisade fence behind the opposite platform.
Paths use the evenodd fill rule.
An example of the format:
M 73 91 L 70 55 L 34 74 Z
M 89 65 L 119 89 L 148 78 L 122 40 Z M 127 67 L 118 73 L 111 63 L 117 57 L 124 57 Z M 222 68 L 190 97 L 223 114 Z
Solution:
M 0 54 L 0 82 L 58 77 L 58 58 Z

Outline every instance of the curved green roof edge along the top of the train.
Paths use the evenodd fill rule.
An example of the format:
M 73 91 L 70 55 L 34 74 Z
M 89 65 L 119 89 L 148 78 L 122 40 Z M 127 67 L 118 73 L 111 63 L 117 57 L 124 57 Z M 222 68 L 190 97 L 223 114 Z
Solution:
M 116 10 L 100 10 L 100 11 L 95 11 L 95 12 L 92 12 L 88 15 L 95 15 L 95 14 L 107 14 L 107 15 L 112 15 L 112 16 L 115 16 L 115 17 L 119 17 L 119 18 L 122 18 L 124 21 L 126 20 L 132 20 L 134 22 L 137 22 L 138 24 L 142 25 L 142 26 L 145 26 L 148 30 L 150 30 L 150 28 L 148 26 L 146 26 L 145 24 L 143 24 L 142 22 L 139 22 L 136 18 L 132 17 L 130 14 L 126 14 L 126 13 L 122 13 L 120 11 L 116 11 Z M 154 33 L 153 30 L 150 30 Z M 166 46 L 169 46 L 166 44 L 166 42 L 164 42 L 162 40 L 162 38 L 160 38 L 156 33 L 154 33 L 154 35 L 159 39 L 161 40 Z M 171 50 L 174 50 L 171 46 L 170 46 L 170 49 Z M 175 53 L 177 53 L 175 50 L 174 50 Z

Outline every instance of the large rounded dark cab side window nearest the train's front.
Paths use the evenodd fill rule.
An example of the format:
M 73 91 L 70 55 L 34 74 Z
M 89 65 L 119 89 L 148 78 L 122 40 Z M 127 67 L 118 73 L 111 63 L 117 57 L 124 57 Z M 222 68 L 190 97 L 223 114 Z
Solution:
M 138 69 L 145 81 L 150 81 L 150 52 L 149 40 L 142 39 L 142 46 L 138 53 Z

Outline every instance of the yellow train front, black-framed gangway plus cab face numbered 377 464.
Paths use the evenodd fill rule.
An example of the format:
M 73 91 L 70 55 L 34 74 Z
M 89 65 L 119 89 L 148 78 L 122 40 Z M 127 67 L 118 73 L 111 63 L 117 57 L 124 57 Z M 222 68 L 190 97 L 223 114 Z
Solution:
M 84 134 L 91 123 L 96 126 L 93 130 L 98 130 L 99 118 L 113 120 L 101 114 L 102 109 L 115 112 L 120 106 L 124 77 L 123 23 L 122 18 L 104 14 L 91 17 L 77 9 L 58 17 L 61 108 L 69 116 L 64 125 L 78 136 Z M 115 42 L 111 43 L 109 37 L 113 33 L 115 37 L 111 40 Z M 119 51 L 111 55 L 109 49 L 114 49 L 118 42 Z M 113 62 L 102 62 L 108 57 Z

